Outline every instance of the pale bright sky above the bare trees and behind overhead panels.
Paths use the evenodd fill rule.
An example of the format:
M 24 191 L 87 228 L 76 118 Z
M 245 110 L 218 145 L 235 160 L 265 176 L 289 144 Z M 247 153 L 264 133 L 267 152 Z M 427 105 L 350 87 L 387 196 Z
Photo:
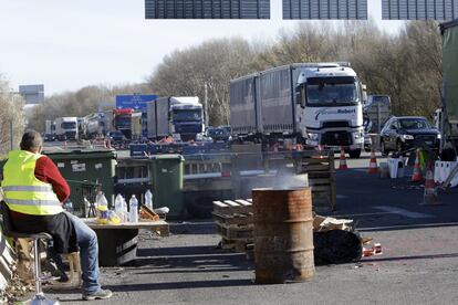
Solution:
M 381 28 L 381 0 L 367 0 Z M 274 40 L 281 0 L 271 20 L 145 20 L 144 0 L 0 0 L 0 73 L 14 90 L 44 84 L 45 95 L 94 84 L 144 82 L 162 59 L 211 38 Z

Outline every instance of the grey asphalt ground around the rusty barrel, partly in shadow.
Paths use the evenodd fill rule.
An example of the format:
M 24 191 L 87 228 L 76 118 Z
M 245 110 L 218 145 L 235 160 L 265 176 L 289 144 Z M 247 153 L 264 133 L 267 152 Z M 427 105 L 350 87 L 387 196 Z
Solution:
M 252 261 L 216 248 L 211 220 L 176 222 L 167 238 L 142 232 L 134 266 L 102 269 L 114 295 L 97 303 L 458 304 L 458 189 L 441 191 L 441 206 L 419 206 L 421 185 L 367 173 L 368 160 L 347 159 L 350 169 L 336 173 L 337 210 L 320 212 L 355 220 L 382 255 L 316 266 L 305 283 L 258 285 Z M 81 299 L 77 291 L 46 295 L 62 304 Z

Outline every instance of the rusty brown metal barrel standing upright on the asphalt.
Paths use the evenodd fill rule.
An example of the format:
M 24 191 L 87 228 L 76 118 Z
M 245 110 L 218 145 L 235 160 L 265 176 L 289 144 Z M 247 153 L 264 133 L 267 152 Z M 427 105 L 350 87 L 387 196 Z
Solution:
M 304 282 L 315 273 L 310 188 L 253 189 L 256 283 Z

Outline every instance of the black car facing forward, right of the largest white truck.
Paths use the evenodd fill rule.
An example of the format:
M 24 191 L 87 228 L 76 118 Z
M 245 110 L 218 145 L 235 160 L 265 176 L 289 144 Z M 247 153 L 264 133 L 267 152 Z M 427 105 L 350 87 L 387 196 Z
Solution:
M 423 116 L 392 117 L 381 133 L 382 154 L 402 152 L 415 147 L 439 147 L 440 133 Z

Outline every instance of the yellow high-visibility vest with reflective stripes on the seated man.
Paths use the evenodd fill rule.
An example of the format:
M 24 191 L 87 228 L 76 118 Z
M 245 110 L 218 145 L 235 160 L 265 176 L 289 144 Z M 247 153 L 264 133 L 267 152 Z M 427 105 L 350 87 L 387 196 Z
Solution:
M 3 199 L 12 211 L 32 215 L 53 215 L 63 211 L 52 186 L 35 178 L 37 160 L 27 150 L 12 150 L 3 167 Z

